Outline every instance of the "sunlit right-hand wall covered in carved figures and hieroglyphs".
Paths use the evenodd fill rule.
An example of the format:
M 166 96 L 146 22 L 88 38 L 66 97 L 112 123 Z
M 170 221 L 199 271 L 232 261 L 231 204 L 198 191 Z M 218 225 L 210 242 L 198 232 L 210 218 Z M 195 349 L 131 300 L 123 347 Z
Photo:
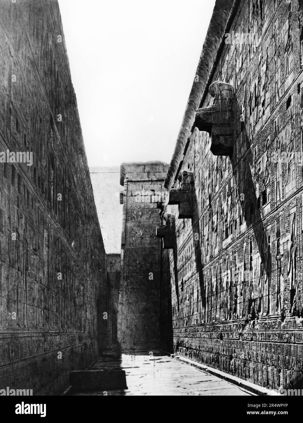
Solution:
M 303 376 L 302 34 L 302 1 L 240 1 L 212 76 L 234 87 L 233 154 L 193 128 L 180 166 L 193 218 L 165 209 L 175 352 L 273 390 Z

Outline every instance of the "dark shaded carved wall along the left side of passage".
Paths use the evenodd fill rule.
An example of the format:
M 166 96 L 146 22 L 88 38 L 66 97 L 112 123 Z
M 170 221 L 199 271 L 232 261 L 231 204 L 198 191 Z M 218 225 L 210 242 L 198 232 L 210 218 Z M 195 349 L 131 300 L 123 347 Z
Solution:
M 1 1 L 0 51 L 0 150 L 33 153 L 0 163 L 0 388 L 53 394 L 96 357 L 106 277 L 57 1 Z

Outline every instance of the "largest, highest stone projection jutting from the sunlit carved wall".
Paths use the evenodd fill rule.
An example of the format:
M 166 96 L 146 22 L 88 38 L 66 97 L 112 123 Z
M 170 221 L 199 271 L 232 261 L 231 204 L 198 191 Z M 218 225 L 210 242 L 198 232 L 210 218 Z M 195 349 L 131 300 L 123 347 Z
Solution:
M 206 131 L 211 138 L 210 151 L 215 156 L 229 156 L 233 152 L 234 87 L 226 82 L 215 81 L 209 85 L 214 97 L 212 106 L 196 111 L 194 125 Z

